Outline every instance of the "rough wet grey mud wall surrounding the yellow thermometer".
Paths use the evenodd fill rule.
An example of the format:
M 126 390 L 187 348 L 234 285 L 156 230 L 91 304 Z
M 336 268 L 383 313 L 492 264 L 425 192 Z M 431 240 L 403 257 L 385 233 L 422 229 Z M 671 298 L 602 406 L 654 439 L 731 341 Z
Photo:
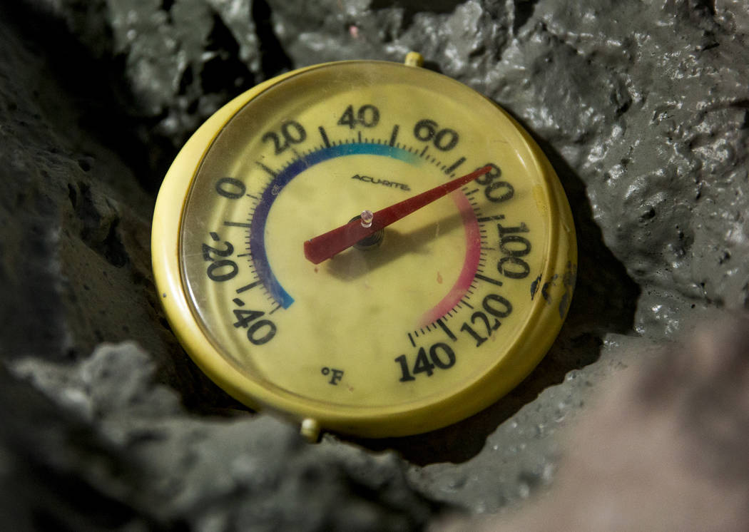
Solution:
M 557 169 L 580 249 L 574 300 L 538 369 L 486 411 L 427 435 L 309 445 L 237 405 L 176 342 L 151 275 L 154 199 L 181 144 L 234 95 L 307 64 L 412 49 L 507 109 Z M 613 414 L 595 407 L 627 366 L 749 309 L 748 136 L 741 0 L 4 3 L 1 528 L 395 531 L 491 513 L 554 529 L 548 502 L 562 500 L 557 516 L 605 507 L 608 525 L 637 515 L 622 528 L 652 528 L 639 500 L 590 487 L 617 486 L 626 459 L 645 500 L 691 474 L 712 487 L 682 510 L 711 489 L 749 508 L 745 321 L 665 347 L 683 367 L 646 370 Z M 682 432 L 644 426 L 694 431 L 697 450 L 663 457 Z M 595 454 L 598 440 L 610 452 Z M 700 447 L 714 440 L 725 445 Z M 601 468 L 575 477 L 594 455 Z M 735 461 L 699 463 L 711 456 Z M 643 487 L 672 462 L 690 474 Z M 690 528 L 663 505 L 661 529 Z M 723 515 L 714 529 L 749 522 Z M 612 528 L 596 523 L 568 525 Z

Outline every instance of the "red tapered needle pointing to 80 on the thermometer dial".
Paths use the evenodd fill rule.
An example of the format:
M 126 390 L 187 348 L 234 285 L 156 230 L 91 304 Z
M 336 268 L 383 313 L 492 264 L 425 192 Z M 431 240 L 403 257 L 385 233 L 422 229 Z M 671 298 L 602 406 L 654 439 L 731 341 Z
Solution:
M 397 222 L 413 211 L 418 211 L 425 205 L 434 202 L 435 199 L 440 199 L 442 196 L 478 178 L 479 175 L 484 175 L 490 171 L 491 166 L 484 166 L 475 172 L 455 178 L 431 190 L 417 194 L 412 198 L 404 199 L 402 202 L 383 208 L 375 212 L 372 226 L 363 227 L 362 221 L 359 218 L 351 220 L 351 222 L 344 226 L 306 241 L 304 243 L 304 256 L 309 261 L 318 265 L 324 260 L 330 259 L 332 256 L 348 249 L 363 238 L 389 226 L 393 222 Z

